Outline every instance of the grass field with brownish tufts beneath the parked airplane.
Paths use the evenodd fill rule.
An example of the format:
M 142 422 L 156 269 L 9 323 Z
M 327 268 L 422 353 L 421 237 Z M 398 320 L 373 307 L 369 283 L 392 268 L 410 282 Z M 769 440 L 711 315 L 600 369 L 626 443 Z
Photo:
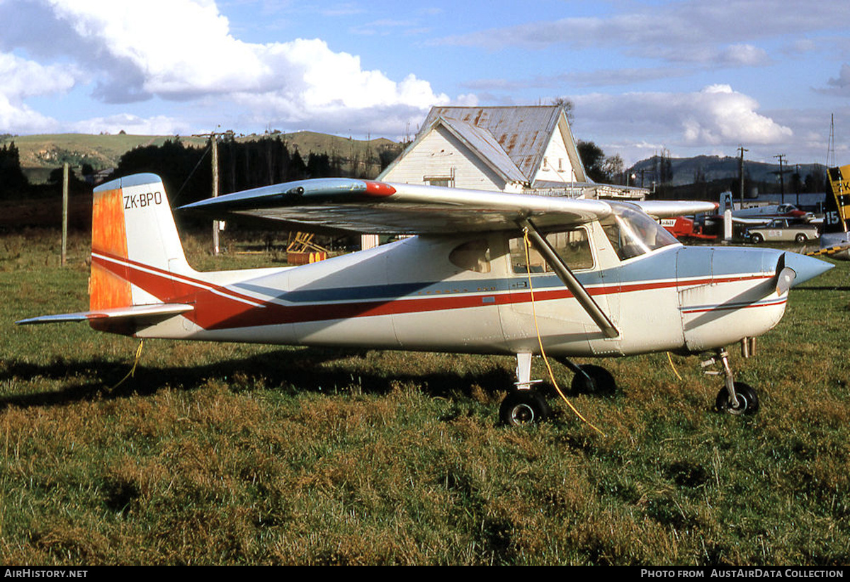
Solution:
M 850 264 L 732 350 L 757 415 L 697 356 L 606 360 L 619 393 L 572 398 L 602 436 L 557 398 L 499 426 L 501 357 L 147 341 L 122 381 L 138 341 L 13 325 L 87 307 L 70 248 L 0 239 L 0 563 L 850 562 Z

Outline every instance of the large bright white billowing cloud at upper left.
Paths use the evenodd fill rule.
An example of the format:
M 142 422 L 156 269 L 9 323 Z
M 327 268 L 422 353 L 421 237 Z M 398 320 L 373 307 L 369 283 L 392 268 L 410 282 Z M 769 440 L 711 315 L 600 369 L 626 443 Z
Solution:
M 242 42 L 212 0 L 0 2 L 0 20 L 13 16 L 21 30 L 50 31 L 54 38 L 14 34 L 0 48 L 41 62 L 70 60 L 74 72 L 62 77 L 63 87 L 86 87 L 106 105 L 214 100 L 248 108 L 216 124 L 238 116 L 260 120 L 261 127 L 306 124 L 344 111 L 368 131 L 388 118 L 421 119 L 431 105 L 450 102 L 427 81 L 413 75 L 395 81 L 319 39 Z M 9 96 L 3 87 L 0 94 Z

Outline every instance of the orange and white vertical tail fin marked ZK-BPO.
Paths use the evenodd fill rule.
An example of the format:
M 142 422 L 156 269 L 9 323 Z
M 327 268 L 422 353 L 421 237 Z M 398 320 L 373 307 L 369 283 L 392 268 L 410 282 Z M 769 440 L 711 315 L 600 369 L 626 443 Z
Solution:
M 161 178 L 134 174 L 94 189 L 89 308 L 110 309 L 174 297 L 170 274 L 193 271 Z M 156 297 L 134 280 L 159 281 Z

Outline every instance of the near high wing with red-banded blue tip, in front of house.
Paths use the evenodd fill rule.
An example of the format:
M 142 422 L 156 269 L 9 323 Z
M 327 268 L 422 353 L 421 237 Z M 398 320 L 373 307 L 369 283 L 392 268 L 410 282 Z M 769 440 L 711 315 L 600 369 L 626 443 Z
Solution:
M 235 192 L 180 206 L 210 218 L 247 216 L 285 228 L 365 234 L 456 234 L 570 226 L 611 214 L 606 201 L 485 190 L 387 184 L 354 178 L 317 178 Z

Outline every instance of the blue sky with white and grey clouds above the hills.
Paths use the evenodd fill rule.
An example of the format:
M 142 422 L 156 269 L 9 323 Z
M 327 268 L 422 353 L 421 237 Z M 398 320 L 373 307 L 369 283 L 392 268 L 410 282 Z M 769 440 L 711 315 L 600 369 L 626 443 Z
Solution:
M 626 167 L 850 163 L 850 0 L 0 0 L 0 133 L 400 140 L 555 99 Z

